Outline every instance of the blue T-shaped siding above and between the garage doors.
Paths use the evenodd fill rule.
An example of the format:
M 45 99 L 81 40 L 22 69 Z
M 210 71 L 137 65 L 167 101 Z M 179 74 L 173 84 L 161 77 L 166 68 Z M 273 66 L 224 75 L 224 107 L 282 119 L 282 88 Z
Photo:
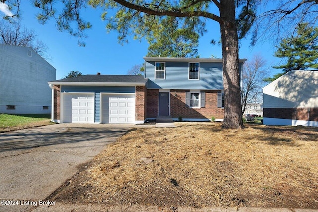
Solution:
M 62 93 L 95 94 L 95 122 L 100 122 L 100 93 L 135 93 L 135 90 L 135 87 L 61 86 Z

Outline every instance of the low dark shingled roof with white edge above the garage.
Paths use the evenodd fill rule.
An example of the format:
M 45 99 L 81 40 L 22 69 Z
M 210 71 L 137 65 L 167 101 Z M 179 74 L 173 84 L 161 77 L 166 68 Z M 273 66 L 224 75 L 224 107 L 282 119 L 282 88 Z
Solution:
M 136 75 L 82 75 L 66 79 L 60 79 L 48 84 L 55 85 L 112 85 L 112 86 L 134 86 L 145 85 L 148 79 Z

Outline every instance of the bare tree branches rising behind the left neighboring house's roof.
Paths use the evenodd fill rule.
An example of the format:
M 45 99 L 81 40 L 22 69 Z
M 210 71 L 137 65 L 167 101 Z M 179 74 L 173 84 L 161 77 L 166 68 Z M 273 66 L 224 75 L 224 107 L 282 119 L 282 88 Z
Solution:
M 43 58 L 49 59 L 47 46 L 40 40 L 34 30 L 22 27 L 21 22 L 8 22 L 0 19 L 0 43 L 31 47 Z

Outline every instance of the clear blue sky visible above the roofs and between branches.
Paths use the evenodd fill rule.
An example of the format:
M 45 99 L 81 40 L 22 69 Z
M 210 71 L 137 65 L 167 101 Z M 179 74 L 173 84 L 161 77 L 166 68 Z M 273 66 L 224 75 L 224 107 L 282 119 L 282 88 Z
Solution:
M 78 45 L 78 38 L 71 36 L 68 32 L 59 32 L 55 27 L 54 20 L 42 25 L 36 19 L 37 9 L 31 1 L 21 1 L 21 23 L 28 29 L 33 29 L 38 39 L 48 47 L 48 62 L 56 68 L 56 79 L 61 79 L 70 71 L 79 71 L 82 74 L 127 74 L 134 65 L 142 64 L 143 57 L 147 54 L 148 43 L 144 39 L 141 42 L 129 38 L 129 43 L 121 45 L 118 43 L 117 32 L 107 33 L 106 22 L 100 18 L 100 12 L 93 8 L 87 8 L 83 17 L 93 27 L 86 31 L 84 38 L 85 47 Z M 3 13 L 1 12 L 1 16 Z M 211 45 L 214 38 L 219 40 L 219 25 L 208 20 L 207 33 L 199 40 L 199 55 L 201 58 L 210 58 L 211 55 L 221 58 L 221 46 Z M 280 62 L 279 58 L 273 56 L 275 48 L 271 42 L 257 44 L 249 47 L 249 39 L 241 41 L 239 58 L 251 59 L 255 54 L 260 54 L 268 62 L 269 76 L 280 70 L 270 68 Z

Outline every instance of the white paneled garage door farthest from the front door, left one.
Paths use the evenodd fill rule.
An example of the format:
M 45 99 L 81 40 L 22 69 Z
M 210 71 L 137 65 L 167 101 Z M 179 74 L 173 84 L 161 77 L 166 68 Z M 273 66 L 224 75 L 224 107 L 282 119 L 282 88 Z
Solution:
M 93 93 L 63 93 L 62 122 L 93 123 L 94 94 Z

